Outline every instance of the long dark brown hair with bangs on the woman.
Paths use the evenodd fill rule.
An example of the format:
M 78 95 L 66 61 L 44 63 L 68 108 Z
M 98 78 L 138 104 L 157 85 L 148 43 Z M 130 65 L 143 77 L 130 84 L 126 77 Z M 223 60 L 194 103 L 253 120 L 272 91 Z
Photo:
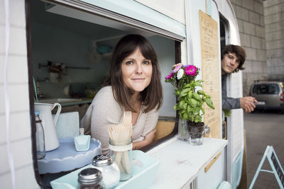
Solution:
M 111 57 L 110 70 L 107 79 L 104 81 L 104 86 L 111 86 L 114 98 L 116 101 L 124 106 L 126 110 L 136 112 L 131 105 L 131 94 L 133 91 L 124 85 L 121 73 L 121 63 L 123 60 L 131 55 L 137 48 L 141 50 L 143 57 L 151 59 L 152 76 L 150 84 L 141 91 L 141 101 L 146 107 L 143 113 L 156 108 L 158 110 L 163 103 L 162 84 L 160 83 L 160 69 L 158 66 L 157 55 L 155 50 L 146 38 L 142 35 L 126 35 L 121 38 L 114 48 L 114 53 Z

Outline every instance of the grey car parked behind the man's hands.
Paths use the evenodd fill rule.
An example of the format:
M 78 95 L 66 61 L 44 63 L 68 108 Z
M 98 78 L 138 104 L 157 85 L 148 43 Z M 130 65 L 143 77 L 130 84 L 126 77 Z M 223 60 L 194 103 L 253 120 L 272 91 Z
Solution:
M 281 81 L 256 81 L 249 96 L 256 98 L 256 110 L 281 110 L 284 113 L 284 83 Z

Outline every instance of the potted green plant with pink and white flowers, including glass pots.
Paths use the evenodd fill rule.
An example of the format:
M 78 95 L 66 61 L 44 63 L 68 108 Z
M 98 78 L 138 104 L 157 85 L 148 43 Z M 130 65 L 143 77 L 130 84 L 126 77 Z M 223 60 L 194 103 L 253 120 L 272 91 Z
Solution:
M 178 110 L 179 138 L 190 139 L 192 144 L 202 144 L 205 125 L 202 122 L 204 115 L 203 104 L 214 109 L 210 96 L 202 91 L 202 80 L 195 80 L 200 69 L 194 65 L 175 64 L 173 71 L 165 76 L 165 82 L 173 84 L 178 103 L 173 107 Z M 200 88 L 200 89 L 197 89 Z

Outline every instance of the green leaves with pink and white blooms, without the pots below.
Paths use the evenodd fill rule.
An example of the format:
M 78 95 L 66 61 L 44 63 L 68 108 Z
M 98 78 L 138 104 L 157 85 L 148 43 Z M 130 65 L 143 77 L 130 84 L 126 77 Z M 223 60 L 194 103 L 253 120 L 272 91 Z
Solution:
M 192 122 L 202 122 L 204 115 L 203 105 L 206 103 L 209 108 L 215 109 L 209 95 L 204 91 L 198 90 L 202 88 L 202 80 L 195 80 L 200 69 L 194 65 L 175 64 L 173 72 L 165 77 L 165 82 L 175 86 L 175 95 L 178 97 L 178 103 L 174 105 L 174 109 L 178 110 L 180 118 L 190 120 Z

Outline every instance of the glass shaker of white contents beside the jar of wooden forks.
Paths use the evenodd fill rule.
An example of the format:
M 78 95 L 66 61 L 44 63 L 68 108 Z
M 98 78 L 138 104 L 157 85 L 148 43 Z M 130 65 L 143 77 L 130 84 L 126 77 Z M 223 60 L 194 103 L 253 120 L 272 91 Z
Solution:
M 102 180 L 106 188 L 114 188 L 119 183 L 119 166 L 117 166 L 111 156 L 107 154 L 94 156 L 92 166 L 102 171 Z

